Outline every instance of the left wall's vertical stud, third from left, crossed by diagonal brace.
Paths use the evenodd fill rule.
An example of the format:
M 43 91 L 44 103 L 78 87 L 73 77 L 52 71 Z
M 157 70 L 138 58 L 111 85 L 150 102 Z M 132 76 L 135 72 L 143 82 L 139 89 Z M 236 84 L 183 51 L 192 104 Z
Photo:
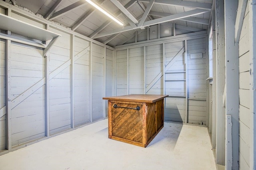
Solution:
M 75 35 L 71 35 L 71 43 L 70 43 L 70 126 L 71 128 L 75 127 L 75 117 L 74 117 L 74 45 L 75 45 Z

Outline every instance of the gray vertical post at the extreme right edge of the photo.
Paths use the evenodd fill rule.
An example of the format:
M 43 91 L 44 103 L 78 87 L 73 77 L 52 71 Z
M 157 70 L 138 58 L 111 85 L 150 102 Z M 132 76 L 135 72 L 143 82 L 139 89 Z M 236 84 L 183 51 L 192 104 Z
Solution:
M 250 168 L 256 167 L 256 0 L 249 0 L 250 45 Z M 252 22 L 253 21 L 253 22 Z

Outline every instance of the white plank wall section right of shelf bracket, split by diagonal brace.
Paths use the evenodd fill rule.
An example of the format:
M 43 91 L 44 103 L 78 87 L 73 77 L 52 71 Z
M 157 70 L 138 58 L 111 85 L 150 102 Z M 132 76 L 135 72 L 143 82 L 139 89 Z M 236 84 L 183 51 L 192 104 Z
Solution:
M 50 31 L 61 34 L 50 50 L 49 71 L 70 59 L 71 36 L 56 29 Z M 70 66 L 49 80 L 50 88 L 50 134 L 70 128 Z

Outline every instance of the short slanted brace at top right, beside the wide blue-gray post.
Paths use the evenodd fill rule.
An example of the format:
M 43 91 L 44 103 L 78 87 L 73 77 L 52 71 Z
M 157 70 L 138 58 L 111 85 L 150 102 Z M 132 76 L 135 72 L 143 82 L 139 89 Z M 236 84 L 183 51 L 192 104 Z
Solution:
M 235 41 L 236 41 L 236 43 L 238 43 L 238 41 L 240 39 L 247 1 L 248 0 L 239 0 L 239 2 L 238 2 L 238 8 L 237 8 L 237 13 L 236 13 L 236 24 L 235 24 Z

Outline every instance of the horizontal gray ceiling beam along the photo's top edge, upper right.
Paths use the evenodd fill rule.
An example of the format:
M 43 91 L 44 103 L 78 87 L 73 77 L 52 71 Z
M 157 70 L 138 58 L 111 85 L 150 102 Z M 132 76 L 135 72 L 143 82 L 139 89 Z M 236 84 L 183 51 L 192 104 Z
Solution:
M 138 0 L 139 2 L 150 2 L 150 0 Z M 160 5 L 172 5 L 188 8 L 197 8 L 203 10 L 211 10 L 212 4 L 210 3 L 201 3 L 201 2 L 190 2 L 184 0 L 155 0 L 155 4 Z

